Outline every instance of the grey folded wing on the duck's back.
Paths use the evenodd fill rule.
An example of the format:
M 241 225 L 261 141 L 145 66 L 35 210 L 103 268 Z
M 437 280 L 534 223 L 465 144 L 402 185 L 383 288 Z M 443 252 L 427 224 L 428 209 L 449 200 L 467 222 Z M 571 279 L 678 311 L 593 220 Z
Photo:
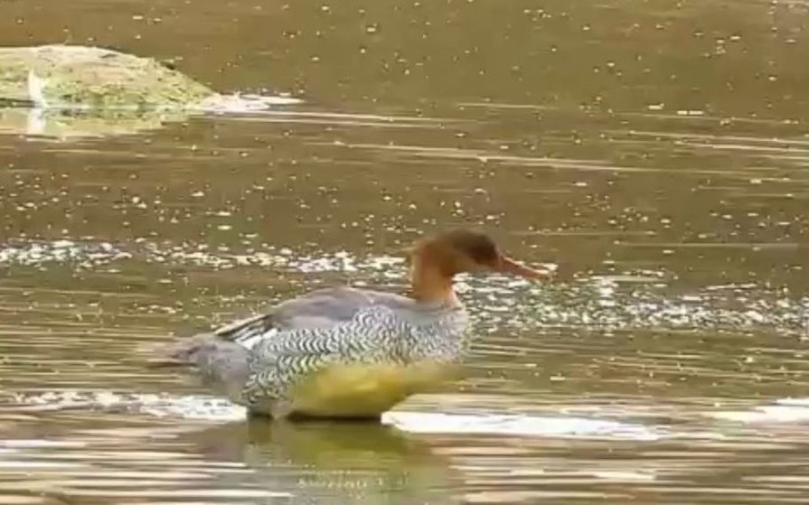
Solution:
M 407 308 L 413 301 L 391 293 L 348 286 L 329 287 L 282 302 L 267 313 L 222 326 L 214 334 L 225 340 L 249 341 L 272 331 L 330 328 L 351 322 L 359 311 L 374 304 L 397 309 Z

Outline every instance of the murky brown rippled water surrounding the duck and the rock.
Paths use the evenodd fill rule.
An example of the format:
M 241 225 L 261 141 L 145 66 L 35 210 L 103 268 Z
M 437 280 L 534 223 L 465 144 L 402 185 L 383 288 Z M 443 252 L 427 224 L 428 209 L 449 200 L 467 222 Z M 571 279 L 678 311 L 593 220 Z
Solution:
M 806 503 L 807 15 L 2 3 L 3 44 L 305 103 L 0 136 L 0 503 Z M 248 422 L 138 361 L 315 286 L 399 289 L 400 248 L 459 223 L 559 279 L 463 279 L 468 379 L 385 426 Z

